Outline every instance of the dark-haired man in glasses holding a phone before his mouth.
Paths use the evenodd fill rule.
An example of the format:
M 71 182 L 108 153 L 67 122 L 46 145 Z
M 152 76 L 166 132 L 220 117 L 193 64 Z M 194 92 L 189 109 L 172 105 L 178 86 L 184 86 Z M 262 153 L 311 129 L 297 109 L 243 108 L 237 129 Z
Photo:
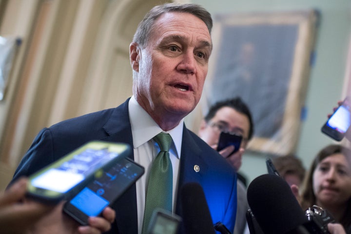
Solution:
M 240 148 L 237 152 L 232 153 L 234 146 L 228 146 L 219 152 L 238 172 L 241 167 L 242 156 L 254 132 L 254 123 L 250 109 L 241 98 L 236 97 L 219 101 L 211 106 L 208 114 L 201 122 L 198 136 L 212 148 L 217 149 L 221 132 L 242 136 Z M 249 205 L 246 198 L 245 181 L 240 178 L 243 178 L 243 176 L 239 176 L 238 174 L 237 212 L 234 234 L 247 234 L 249 233 L 249 229 L 245 215 L 249 209 Z

